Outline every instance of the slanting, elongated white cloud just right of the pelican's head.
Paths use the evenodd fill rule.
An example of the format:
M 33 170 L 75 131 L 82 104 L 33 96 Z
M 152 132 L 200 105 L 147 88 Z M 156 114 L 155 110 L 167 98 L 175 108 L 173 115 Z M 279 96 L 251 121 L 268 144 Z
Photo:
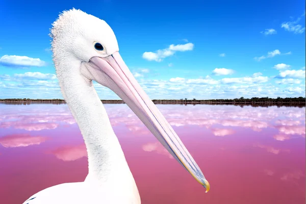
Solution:
M 145 52 L 142 54 L 142 58 L 148 61 L 157 61 L 161 62 L 164 58 L 174 55 L 175 52 L 185 52 L 189 50 L 193 50 L 194 44 L 186 43 L 186 44 L 171 44 L 166 49 L 159 49 L 157 52 Z

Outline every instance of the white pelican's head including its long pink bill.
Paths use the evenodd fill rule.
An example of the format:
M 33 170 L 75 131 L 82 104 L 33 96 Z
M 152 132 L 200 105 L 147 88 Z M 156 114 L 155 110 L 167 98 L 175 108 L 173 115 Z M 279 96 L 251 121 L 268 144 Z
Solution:
M 116 36 L 104 20 L 81 10 L 64 11 L 54 22 L 50 35 L 61 87 L 69 86 L 66 82 L 69 78 L 76 82 L 74 95 L 78 94 L 81 81 L 91 86 L 92 81 L 96 81 L 113 90 L 177 162 L 206 188 L 206 192 L 209 191 L 210 185 L 200 168 L 125 65 L 119 55 Z M 67 99 L 68 94 L 63 94 Z

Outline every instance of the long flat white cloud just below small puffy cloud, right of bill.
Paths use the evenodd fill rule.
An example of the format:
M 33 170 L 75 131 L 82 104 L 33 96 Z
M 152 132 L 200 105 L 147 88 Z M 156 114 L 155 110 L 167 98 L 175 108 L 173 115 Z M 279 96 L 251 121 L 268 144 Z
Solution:
M 262 73 L 254 73 L 251 77 L 241 77 L 241 78 L 223 78 L 221 80 L 222 84 L 253 84 L 253 83 L 265 83 L 269 81 L 268 77 L 263 77 Z

